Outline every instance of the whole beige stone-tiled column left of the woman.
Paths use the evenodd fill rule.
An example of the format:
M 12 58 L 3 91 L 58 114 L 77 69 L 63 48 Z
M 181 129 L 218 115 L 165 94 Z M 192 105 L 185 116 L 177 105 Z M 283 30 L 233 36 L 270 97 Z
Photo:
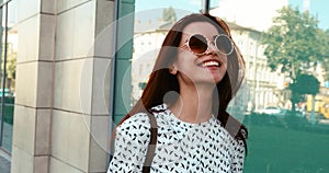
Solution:
M 12 173 L 105 172 L 114 2 L 18 7 Z

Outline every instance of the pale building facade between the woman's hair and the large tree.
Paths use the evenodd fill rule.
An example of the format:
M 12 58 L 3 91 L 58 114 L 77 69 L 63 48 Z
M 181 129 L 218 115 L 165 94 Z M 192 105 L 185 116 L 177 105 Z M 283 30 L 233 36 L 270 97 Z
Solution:
M 262 32 L 229 23 L 232 38 L 240 48 L 246 60 L 246 85 L 241 92 L 248 93 L 248 103 L 254 112 L 268 106 L 280 106 L 285 102 L 282 90 L 285 76 L 280 71 L 271 71 L 261 45 Z M 247 91 L 243 91 L 247 90 Z M 239 96 L 237 96 L 239 99 Z M 247 106 L 248 107 L 248 106 Z

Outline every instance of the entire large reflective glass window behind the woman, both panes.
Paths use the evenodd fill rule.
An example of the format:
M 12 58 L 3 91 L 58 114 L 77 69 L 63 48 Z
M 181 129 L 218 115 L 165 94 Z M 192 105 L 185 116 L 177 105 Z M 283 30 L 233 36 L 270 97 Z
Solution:
M 232 101 L 229 107 L 234 116 L 239 117 L 249 129 L 248 155 L 243 172 L 329 172 L 329 15 L 327 14 L 329 1 L 217 0 L 211 2 L 211 13 L 225 19 L 229 27 L 234 26 L 230 28 L 232 37 L 240 46 L 248 65 L 246 82 L 236 96 L 241 102 Z M 300 19 L 297 19 L 297 22 L 273 23 L 274 16 L 283 14 L 277 10 L 287 5 L 298 10 L 303 14 Z M 129 66 L 132 71 L 149 72 L 172 22 L 185 14 L 200 12 L 202 0 L 137 0 L 135 7 L 134 21 L 138 22 L 134 23 L 132 37 L 135 53 L 132 55 Z M 170 7 L 174 9 L 174 13 L 170 14 L 170 18 L 164 18 L 163 10 Z M 298 20 L 307 15 L 311 16 L 310 21 L 315 20 L 315 25 L 297 26 L 300 23 Z M 294 16 L 296 15 L 285 19 L 296 20 Z M 314 51 L 314 55 L 304 56 L 309 51 L 308 48 L 292 46 L 299 41 L 291 39 L 284 43 L 283 39 L 288 36 L 288 33 L 280 33 L 287 31 L 280 28 L 285 28 L 284 24 L 288 26 L 296 24 L 290 32 L 305 28 L 299 33 L 302 34 L 299 37 L 314 43 L 314 47 L 320 49 Z M 272 26 L 279 26 L 276 32 L 272 33 L 272 37 L 274 35 L 283 35 L 283 37 L 277 37 L 277 41 L 273 41 L 272 44 L 265 44 L 265 35 Z M 316 33 L 311 33 L 311 26 L 316 27 L 314 30 L 317 31 Z M 308 39 L 310 36 L 317 38 L 317 42 Z M 143 44 L 149 42 L 151 44 Z M 269 54 L 269 46 L 275 44 L 281 44 L 284 48 L 293 47 L 292 53 L 295 55 L 299 53 L 300 58 L 292 59 L 294 57 L 290 56 L 277 58 L 273 56 L 274 53 Z M 307 42 L 303 42 L 304 44 L 307 45 Z M 287 49 L 276 48 L 273 51 L 277 51 L 277 56 L 281 56 Z M 313 66 L 315 64 L 310 62 L 322 66 Z M 141 66 L 145 69 L 136 70 Z M 148 73 L 140 72 L 140 74 L 143 76 L 128 72 L 131 78 L 126 79 L 132 81 L 128 83 L 134 88 L 127 99 L 128 103 L 136 102 L 147 82 Z M 305 78 L 318 82 L 309 82 L 310 80 Z M 310 92 L 300 85 L 298 88 L 296 83 L 300 81 L 304 82 L 302 82 L 304 88 L 318 90 Z M 129 108 L 124 108 L 117 116 L 117 122 Z

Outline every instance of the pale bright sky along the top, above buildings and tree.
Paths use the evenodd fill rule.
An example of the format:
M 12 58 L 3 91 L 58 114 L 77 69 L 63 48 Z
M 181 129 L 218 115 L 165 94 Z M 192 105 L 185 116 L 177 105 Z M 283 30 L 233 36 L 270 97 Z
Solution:
M 182 16 L 198 12 L 203 0 L 136 0 L 137 16 L 141 19 L 161 18 L 161 8 L 172 7 Z M 211 0 L 211 7 L 219 7 L 220 18 L 229 22 L 242 23 L 243 26 L 266 30 L 275 10 L 283 4 L 291 4 L 300 11 L 308 9 L 319 20 L 319 27 L 329 30 L 329 0 Z M 140 15 L 139 15 L 140 14 Z M 223 16 L 225 15 L 225 16 Z

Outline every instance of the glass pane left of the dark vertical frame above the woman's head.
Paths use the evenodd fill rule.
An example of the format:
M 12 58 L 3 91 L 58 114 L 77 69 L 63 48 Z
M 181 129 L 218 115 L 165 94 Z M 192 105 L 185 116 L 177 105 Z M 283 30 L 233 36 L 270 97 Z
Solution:
M 154 62 L 157 58 L 161 44 L 169 28 L 173 25 L 175 21 L 178 21 L 182 16 L 189 13 L 198 12 L 201 8 L 201 1 L 189 2 L 189 5 L 186 5 L 188 8 L 184 7 L 182 2 L 179 2 L 182 4 L 180 4 L 180 7 L 177 7 L 175 3 L 178 1 L 171 0 L 167 3 L 163 3 L 163 1 L 159 0 L 157 1 L 157 3 L 148 3 L 150 1 L 135 2 L 135 21 L 138 22 L 135 23 L 134 27 L 134 42 L 148 43 L 134 44 L 134 49 L 138 50 L 138 53 L 133 55 L 132 71 L 135 71 L 134 69 L 136 68 L 139 68 L 139 70 L 141 70 L 140 68 L 143 67 L 143 72 L 140 72 L 143 76 L 132 73 L 132 81 L 134 81 L 132 85 L 136 89 L 137 86 L 135 85 L 147 82 L 148 76 L 152 71 Z M 173 10 L 172 13 L 166 14 L 164 11 L 170 8 Z M 144 88 L 138 89 L 139 90 L 133 91 L 133 95 L 138 95 L 139 97 L 140 94 L 136 93 L 141 93 Z M 138 100 L 138 97 L 134 97 L 133 100 Z

